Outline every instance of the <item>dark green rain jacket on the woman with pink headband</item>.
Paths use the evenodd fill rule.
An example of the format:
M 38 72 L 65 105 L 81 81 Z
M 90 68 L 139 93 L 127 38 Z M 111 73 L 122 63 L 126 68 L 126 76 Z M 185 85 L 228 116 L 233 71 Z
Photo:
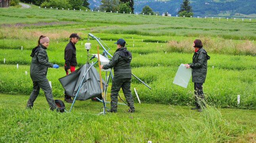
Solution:
M 33 48 L 31 53 L 30 77 L 33 82 L 47 80 L 46 74 L 48 67 L 53 67 L 53 63 L 48 62 L 46 47 L 38 45 Z

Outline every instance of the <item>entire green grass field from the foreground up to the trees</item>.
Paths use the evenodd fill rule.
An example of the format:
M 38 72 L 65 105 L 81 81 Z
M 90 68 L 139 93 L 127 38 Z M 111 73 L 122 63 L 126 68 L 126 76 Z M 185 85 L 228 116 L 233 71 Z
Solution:
M 38 7 L 2 8 L 0 19 L 0 142 L 244 143 L 256 140 L 255 19 L 227 21 Z M 127 106 L 119 105 L 117 114 L 95 115 L 102 105 L 90 100 L 76 102 L 71 113 L 55 113 L 47 110 L 42 91 L 34 108 L 25 109 L 32 90 L 29 55 L 38 37 L 50 38 L 49 60 L 61 68 L 49 68 L 47 76 L 52 82 L 54 98 L 63 100 L 58 78 L 65 76 L 64 48 L 74 32 L 82 37 L 76 44 L 78 67 L 86 63 L 84 43 L 88 33 L 106 43 L 111 54 L 116 49 L 114 41 L 126 40 L 133 55 L 132 73 L 152 87 L 148 89 L 132 78 L 132 88 L 136 88 L 143 103 L 135 104 L 136 113 L 130 114 Z M 211 56 L 204 84 L 209 107 L 202 113 L 189 110 L 194 106 L 192 82 L 187 89 L 172 84 L 179 65 L 192 61 L 194 39 L 201 39 Z M 90 38 L 90 43 L 90 53 L 95 54 L 97 41 Z M 237 95 L 241 96 L 239 106 Z M 120 96 L 124 98 L 122 92 Z M 134 92 L 133 96 L 136 99 Z M 70 106 L 66 104 L 67 109 Z

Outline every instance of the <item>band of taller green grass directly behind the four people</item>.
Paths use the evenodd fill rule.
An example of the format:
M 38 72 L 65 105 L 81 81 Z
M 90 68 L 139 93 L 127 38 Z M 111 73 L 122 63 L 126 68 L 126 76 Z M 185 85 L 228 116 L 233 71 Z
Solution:
M 16 65 L 1 65 L 0 67 L 2 69 L 0 77 L 1 93 L 25 95 L 31 93 L 32 81 L 29 76 L 29 66 L 19 65 L 19 69 L 16 68 Z M 193 83 L 190 81 L 187 89 L 172 84 L 177 69 L 178 66 L 133 68 L 132 73 L 147 83 L 152 89 L 148 89 L 135 78 L 132 78 L 131 88 L 136 88 L 140 100 L 143 102 L 193 105 Z M 27 75 L 25 75 L 25 71 L 28 72 Z M 206 101 L 212 106 L 221 104 L 221 107 L 255 109 L 256 79 L 254 74 L 254 69 L 231 71 L 209 68 L 203 88 Z M 62 68 L 48 69 L 48 80 L 52 82 L 54 97 L 63 97 L 64 95 L 63 88 L 58 81 L 58 78 L 63 76 L 65 76 L 65 71 Z M 102 76 L 105 79 L 105 73 Z M 108 93 L 110 93 L 110 88 Z M 133 90 L 132 93 L 134 98 L 136 98 Z M 40 91 L 40 95 L 44 95 L 44 93 Z M 123 97 L 122 92 L 120 95 Z M 237 95 L 241 96 L 239 107 L 237 107 Z

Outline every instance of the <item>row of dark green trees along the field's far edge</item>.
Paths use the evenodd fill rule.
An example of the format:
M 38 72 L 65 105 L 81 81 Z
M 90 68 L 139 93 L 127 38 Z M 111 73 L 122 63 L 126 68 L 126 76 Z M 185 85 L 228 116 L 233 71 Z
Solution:
M 11 0 L 18 4 L 18 0 Z M 88 0 L 26 0 L 26 2 L 35 4 L 41 7 L 52 7 L 52 8 L 64 8 L 64 9 L 90 9 Z M 180 11 L 178 14 L 180 16 L 190 17 L 193 16 L 192 7 L 189 6 L 189 0 L 183 0 L 181 4 Z M 101 0 L 101 5 L 99 7 L 94 7 L 94 11 L 103 12 L 117 12 L 119 13 L 134 13 L 134 0 Z M 153 12 L 151 7 L 144 6 L 141 14 L 143 15 L 154 15 L 159 14 L 159 12 Z M 167 12 L 165 16 L 167 16 Z

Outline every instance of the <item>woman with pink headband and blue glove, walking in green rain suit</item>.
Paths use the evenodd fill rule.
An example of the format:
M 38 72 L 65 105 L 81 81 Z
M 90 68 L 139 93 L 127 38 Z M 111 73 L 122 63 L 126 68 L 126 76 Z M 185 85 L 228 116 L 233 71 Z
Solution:
M 50 110 L 64 111 L 65 107 L 59 108 L 55 104 L 52 95 L 52 88 L 46 78 L 48 67 L 59 68 L 57 64 L 49 63 L 46 49 L 49 45 L 49 38 L 40 36 L 38 45 L 32 49 L 30 76 L 33 82 L 33 90 L 27 102 L 27 108 L 32 109 L 34 101 L 38 96 L 40 88 L 44 91 L 46 100 L 50 106 Z

